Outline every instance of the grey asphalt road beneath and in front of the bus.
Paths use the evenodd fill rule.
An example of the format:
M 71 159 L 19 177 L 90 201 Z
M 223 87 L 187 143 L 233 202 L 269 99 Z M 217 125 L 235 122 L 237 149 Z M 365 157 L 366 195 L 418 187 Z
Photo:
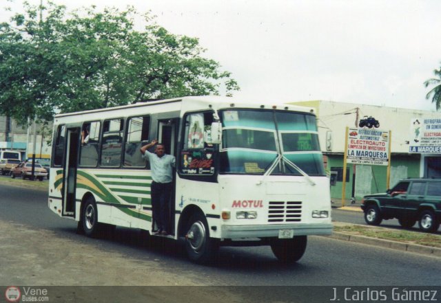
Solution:
M 173 241 L 155 240 L 152 246 L 145 245 L 145 234 L 139 230 L 118 228 L 113 236 L 100 239 L 76 234 L 76 223 L 50 212 L 47 198 L 48 194 L 43 191 L 0 185 L 0 221 L 19 223 L 24 229 L 50 231 L 55 235 L 54 240 L 73 243 L 79 249 L 90 246 L 103 252 L 113 251 L 118 258 L 136 260 L 140 266 L 161 260 L 164 271 L 178 273 L 193 284 L 440 285 L 441 262 L 438 258 L 319 236 L 309 237 L 305 256 L 291 267 L 280 265 L 269 247 L 222 247 L 214 265 L 194 265 Z M 17 246 L 17 250 L 22 249 L 27 248 Z M 7 251 L 3 250 L 3 253 Z M 106 270 L 112 269 L 104 267 L 103 272 L 97 274 L 105 276 Z M 56 283 L 66 284 L 65 281 L 70 281 L 69 274 L 64 273 Z M 160 277 L 161 273 L 158 273 Z M 136 276 L 133 279 L 134 284 L 140 283 Z M 0 284 L 10 282 L 6 278 Z M 119 281 L 115 280 L 113 284 L 118 285 Z

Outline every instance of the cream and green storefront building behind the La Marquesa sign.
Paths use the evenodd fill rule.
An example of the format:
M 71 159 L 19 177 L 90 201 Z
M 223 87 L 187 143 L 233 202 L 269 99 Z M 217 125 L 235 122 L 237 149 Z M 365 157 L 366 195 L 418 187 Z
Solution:
M 368 117 L 378 121 L 378 128 L 371 125 L 372 129 L 391 132 L 389 186 L 409 177 L 441 177 L 439 112 L 321 100 L 292 104 L 316 110 L 320 147 L 325 155 L 327 171 L 337 172 L 336 185 L 331 186 L 333 199 L 342 197 L 346 128 L 360 128 L 360 120 Z M 419 125 L 418 122 L 414 124 L 416 120 Z M 387 188 L 387 166 L 347 165 L 345 197 L 348 199 L 354 197 L 359 200 L 365 194 L 384 192 Z

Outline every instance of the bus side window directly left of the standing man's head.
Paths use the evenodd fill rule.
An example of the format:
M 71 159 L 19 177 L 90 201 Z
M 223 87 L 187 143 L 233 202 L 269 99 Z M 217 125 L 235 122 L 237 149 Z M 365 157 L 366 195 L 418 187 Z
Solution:
M 145 145 L 149 137 L 150 117 L 130 117 L 127 121 L 125 136 L 124 167 L 145 168 L 145 160 L 139 148 Z M 147 161 L 147 166 L 150 162 Z M 150 167 L 148 167 L 150 169 Z

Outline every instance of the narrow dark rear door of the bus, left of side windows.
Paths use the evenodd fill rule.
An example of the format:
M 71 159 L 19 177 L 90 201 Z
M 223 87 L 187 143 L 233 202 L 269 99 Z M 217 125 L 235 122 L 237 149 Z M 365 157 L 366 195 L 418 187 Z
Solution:
M 79 150 L 80 128 L 68 128 L 63 177 L 63 216 L 75 214 L 76 164 Z

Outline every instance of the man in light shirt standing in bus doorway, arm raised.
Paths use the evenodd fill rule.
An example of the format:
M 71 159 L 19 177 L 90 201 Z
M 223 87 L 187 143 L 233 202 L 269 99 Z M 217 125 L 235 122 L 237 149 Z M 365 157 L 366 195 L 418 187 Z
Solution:
M 155 146 L 154 153 L 148 151 L 149 148 Z M 150 186 L 150 197 L 152 197 L 152 231 L 154 231 L 154 223 L 158 225 L 156 234 L 169 234 L 168 203 L 172 194 L 173 168 L 176 166 L 176 158 L 172 155 L 165 154 L 164 144 L 154 139 L 149 144 L 140 148 L 144 159 L 150 161 L 150 169 L 152 170 L 152 184 Z

